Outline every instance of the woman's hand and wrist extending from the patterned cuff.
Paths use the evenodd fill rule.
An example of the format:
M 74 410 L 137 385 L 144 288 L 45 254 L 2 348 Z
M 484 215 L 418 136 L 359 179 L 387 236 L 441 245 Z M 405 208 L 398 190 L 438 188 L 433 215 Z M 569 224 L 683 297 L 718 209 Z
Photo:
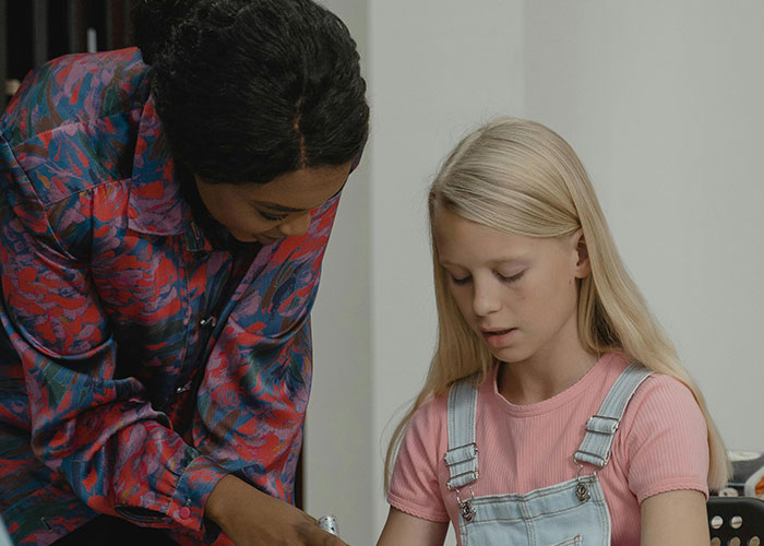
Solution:
M 229 474 L 204 510 L 237 546 L 347 546 L 313 518 Z

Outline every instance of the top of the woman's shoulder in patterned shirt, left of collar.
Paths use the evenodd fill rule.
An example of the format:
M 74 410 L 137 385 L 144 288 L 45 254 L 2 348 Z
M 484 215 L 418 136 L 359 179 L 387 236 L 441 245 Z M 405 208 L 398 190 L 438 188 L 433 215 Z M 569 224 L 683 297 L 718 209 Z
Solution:
M 147 72 L 136 48 L 52 59 L 24 78 L 3 114 L 3 138 L 13 146 L 60 127 L 142 108 Z

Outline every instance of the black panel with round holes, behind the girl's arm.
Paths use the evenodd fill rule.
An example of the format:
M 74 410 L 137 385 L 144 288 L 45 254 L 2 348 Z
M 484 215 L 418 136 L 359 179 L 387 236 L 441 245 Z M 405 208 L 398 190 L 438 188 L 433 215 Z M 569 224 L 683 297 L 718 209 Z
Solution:
M 711 497 L 706 507 L 712 545 L 764 546 L 764 500 Z

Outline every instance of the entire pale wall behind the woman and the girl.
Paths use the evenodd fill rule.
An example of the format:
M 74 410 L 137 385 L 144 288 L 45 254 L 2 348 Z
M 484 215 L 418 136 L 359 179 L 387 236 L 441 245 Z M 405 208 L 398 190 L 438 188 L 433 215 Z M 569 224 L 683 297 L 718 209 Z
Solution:
M 764 450 L 764 3 L 325 3 L 359 40 L 372 138 L 313 313 L 308 511 L 379 535 L 384 447 L 434 337 L 426 187 L 500 112 L 571 142 L 727 442 Z

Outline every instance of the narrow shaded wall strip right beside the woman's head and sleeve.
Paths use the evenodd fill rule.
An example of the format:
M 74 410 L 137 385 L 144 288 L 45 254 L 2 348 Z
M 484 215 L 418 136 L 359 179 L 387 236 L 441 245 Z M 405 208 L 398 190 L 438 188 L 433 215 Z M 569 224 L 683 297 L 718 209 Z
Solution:
M 323 2 L 348 26 L 368 75 L 367 2 Z M 335 219 L 315 307 L 313 387 L 303 450 L 306 511 L 334 514 L 349 544 L 372 544 L 375 482 L 371 434 L 371 247 L 367 149 L 350 176 Z

